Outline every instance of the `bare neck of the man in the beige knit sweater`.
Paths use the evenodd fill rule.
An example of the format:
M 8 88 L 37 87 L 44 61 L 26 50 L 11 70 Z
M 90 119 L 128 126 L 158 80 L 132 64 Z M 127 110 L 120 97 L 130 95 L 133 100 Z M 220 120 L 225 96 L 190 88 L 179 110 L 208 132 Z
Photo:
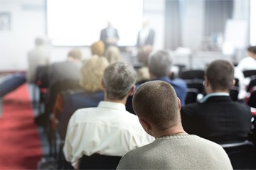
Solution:
M 183 130 L 181 123 L 179 123 L 178 125 L 174 125 L 166 130 L 157 131 L 157 132 L 153 133 L 152 135 L 155 138 L 159 138 L 159 137 L 164 137 L 164 136 L 168 136 L 168 135 L 178 135 L 178 134 L 182 134 L 182 133 L 186 134 L 185 130 Z

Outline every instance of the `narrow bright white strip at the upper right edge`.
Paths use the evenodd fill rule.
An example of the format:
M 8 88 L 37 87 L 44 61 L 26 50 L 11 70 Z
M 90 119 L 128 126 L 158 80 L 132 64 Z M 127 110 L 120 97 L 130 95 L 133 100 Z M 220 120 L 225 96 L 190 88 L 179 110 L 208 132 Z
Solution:
M 250 45 L 256 45 L 256 1 L 250 1 Z

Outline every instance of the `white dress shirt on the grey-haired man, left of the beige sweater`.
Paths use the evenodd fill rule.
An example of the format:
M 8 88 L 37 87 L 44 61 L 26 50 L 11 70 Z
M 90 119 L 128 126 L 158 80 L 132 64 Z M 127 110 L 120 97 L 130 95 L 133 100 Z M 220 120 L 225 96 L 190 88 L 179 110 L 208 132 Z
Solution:
M 97 108 L 82 108 L 70 118 L 63 152 L 65 159 L 78 168 L 82 155 L 123 156 L 154 141 L 146 134 L 137 115 L 122 103 L 101 101 Z

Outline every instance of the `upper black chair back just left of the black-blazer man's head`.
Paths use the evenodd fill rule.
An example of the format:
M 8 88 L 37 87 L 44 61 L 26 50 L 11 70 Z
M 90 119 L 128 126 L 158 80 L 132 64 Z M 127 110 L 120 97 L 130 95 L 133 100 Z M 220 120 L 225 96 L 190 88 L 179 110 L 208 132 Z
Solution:
M 203 79 L 204 71 L 201 69 L 184 70 L 181 72 L 181 79 Z

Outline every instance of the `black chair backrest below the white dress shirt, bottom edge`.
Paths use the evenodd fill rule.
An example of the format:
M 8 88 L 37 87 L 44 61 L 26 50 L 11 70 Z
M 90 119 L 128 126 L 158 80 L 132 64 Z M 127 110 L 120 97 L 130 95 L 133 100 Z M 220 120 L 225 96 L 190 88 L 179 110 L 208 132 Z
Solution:
M 84 155 L 79 160 L 79 169 L 117 169 L 121 158 L 102 154 Z

